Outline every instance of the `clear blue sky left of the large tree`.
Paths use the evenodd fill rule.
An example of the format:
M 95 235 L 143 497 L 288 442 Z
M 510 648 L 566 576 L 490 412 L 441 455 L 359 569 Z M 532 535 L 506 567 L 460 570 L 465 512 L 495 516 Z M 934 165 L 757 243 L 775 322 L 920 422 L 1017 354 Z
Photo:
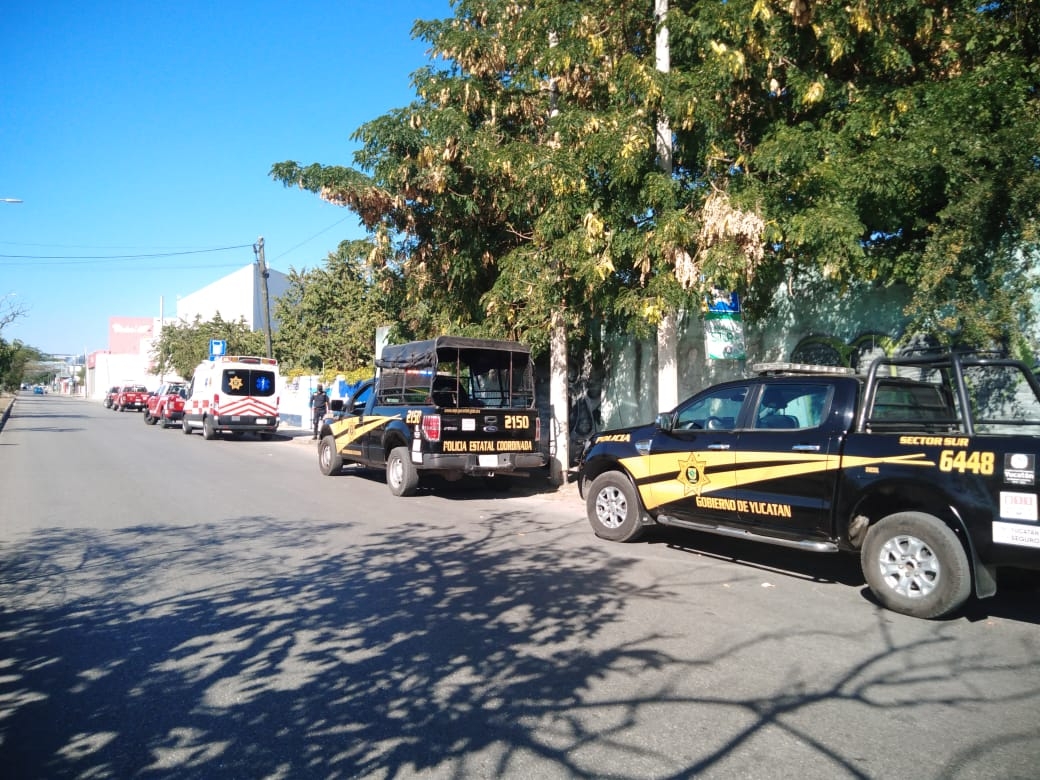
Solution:
M 254 262 L 261 235 L 282 271 L 362 236 L 270 166 L 350 164 L 353 132 L 414 98 L 428 61 L 414 21 L 452 15 L 448 0 L 4 6 L 0 198 L 22 203 L 0 203 L 0 313 L 26 314 L 0 336 L 53 354 L 107 348 L 110 316 L 156 317 L 160 301 L 173 316 Z

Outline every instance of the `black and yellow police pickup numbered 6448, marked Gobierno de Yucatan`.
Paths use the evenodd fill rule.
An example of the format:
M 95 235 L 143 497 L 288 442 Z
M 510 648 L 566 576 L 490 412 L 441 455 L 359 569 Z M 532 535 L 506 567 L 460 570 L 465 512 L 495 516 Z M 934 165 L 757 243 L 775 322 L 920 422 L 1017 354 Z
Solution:
M 855 552 L 878 600 L 919 618 L 993 595 L 1000 567 L 1040 569 L 1040 385 L 1023 364 L 756 369 L 594 437 L 579 490 L 598 536 L 661 524 Z

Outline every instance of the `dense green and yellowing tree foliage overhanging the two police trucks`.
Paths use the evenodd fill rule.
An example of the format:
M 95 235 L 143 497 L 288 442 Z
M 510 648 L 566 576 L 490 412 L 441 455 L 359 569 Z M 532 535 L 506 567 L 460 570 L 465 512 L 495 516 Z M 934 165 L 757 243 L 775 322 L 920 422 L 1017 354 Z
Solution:
M 453 10 L 353 166 L 271 170 L 359 214 L 405 330 L 538 348 L 554 313 L 638 329 L 718 285 L 762 316 L 795 278 L 911 285 L 911 327 L 972 343 L 1028 323 L 1036 3 L 673 0 L 667 73 L 650 3 Z

